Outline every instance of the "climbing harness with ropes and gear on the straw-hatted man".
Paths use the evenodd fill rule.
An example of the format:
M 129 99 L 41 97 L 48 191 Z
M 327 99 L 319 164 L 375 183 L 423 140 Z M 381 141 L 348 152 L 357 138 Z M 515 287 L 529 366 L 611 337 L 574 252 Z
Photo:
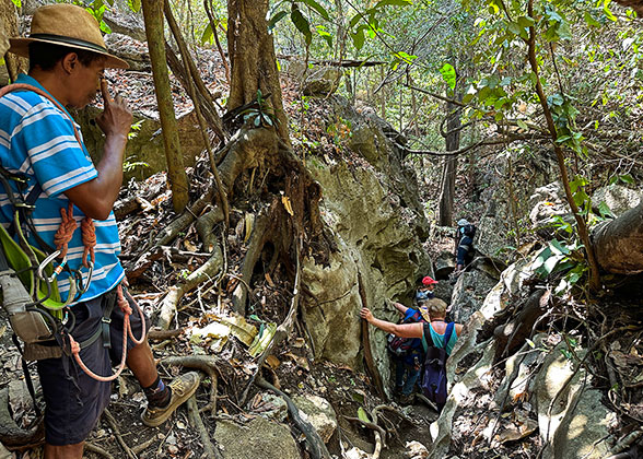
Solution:
M 0 90 L 0 97 L 12 91 L 32 91 L 49 99 L 71 121 L 74 137 L 82 149 L 81 137 L 73 119 L 55 98 L 38 87 L 28 84 L 11 84 L 5 86 Z M 14 192 L 11 183 L 15 184 L 17 192 Z M 141 344 L 145 337 L 145 320 L 140 306 L 127 293 L 136 304 L 142 322 L 141 338 L 137 340 L 131 331 L 129 320 L 132 309 L 125 297 L 121 284 L 119 284 L 115 292 L 116 298 L 107 294 L 109 296 L 106 298 L 106 304 L 103 308 L 103 318 L 97 330 L 87 340 L 80 343 L 71 336 L 75 326 L 75 316 L 69 310 L 69 305 L 72 302 L 79 301 L 87 291 L 94 271 L 96 234 L 93 220 L 85 216 L 81 222 L 81 235 L 84 246 L 82 264 L 87 269 L 86 280 L 83 281 L 80 269 L 72 271 L 67 263 L 68 244 L 78 227 L 77 221 L 73 217 L 73 203 L 70 202 L 68 209 L 60 210 L 61 223 L 54 237 L 54 244 L 56 246 L 54 249 L 38 236 L 31 219 L 36 200 L 43 192 L 40 186 L 36 183 L 32 190 L 27 192 L 26 177 L 12 174 L 1 165 L 0 185 L 7 190 L 8 199 L 13 205 L 13 223 L 10 226 L 12 235 L 10 235 L 3 225 L 0 225 L 0 287 L 2 289 L 3 306 L 9 314 L 14 332 L 13 341 L 23 356 L 23 370 L 32 398 L 35 401 L 35 392 L 33 391 L 33 384 L 28 376 L 26 361 L 60 357 L 65 353 L 67 355 L 73 355 L 78 365 L 90 377 L 101 381 L 115 379 L 125 367 L 127 337 L 129 336 L 136 344 Z M 25 195 L 26 198 L 24 198 Z M 25 236 L 26 232 L 34 237 L 42 250 L 28 244 Z M 54 268 L 52 263 L 58 259 L 60 261 Z M 63 271 L 69 276 L 70 285 L 66 302 L 60 301 L 56 282 L 56 279 Z M 82 362 L 80 351 L 93 344 L 100 338 L 103 338 L 104 346 L 110 346 L 109 323 L 115 302 L 121 308 L 125 316 L 122 357 L 116 374 L 101 376 L 94 374 Z M 20 345 L 16 336 L 23 341 L 24 350 Z

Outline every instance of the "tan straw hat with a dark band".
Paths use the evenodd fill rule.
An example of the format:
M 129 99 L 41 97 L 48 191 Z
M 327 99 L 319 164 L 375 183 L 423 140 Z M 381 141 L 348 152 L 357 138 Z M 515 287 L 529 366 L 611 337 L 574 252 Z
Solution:
M 106 68 L 127 69 L 128 63 L 107 51 L 101 27 L 96 19 L 81 7 L 68 3 L 40 7 L 32 19 L 28 38 L 10 38 L 9 52 L 28 57 L 30 43 L 40 42 L 51 45 L 85 49 L 105 56 Z

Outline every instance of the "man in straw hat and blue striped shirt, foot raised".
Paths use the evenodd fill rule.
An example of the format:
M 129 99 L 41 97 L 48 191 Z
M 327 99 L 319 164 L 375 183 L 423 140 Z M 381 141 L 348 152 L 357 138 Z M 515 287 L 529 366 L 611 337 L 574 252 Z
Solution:
M 92 14 L 72 4 L 39 8 L 32 20 L 31 35 L 10 42 L 9 52 L 30 58 L 30 72 L 21 74 L 12 91 L 0 97 L 0 162 L 9 173 L 26 179 L 26 192 L 39 190 L 32 219 L 45 243 L 57 247 L 54 239 L 58 226 L 66 216 L 73 216 L 66 243 L 67 264 L 87 283 L 70 308 L 75 327 L 69 334 L 83 344 L 71 350 L 75 362 L 67 355 L 37 362 L 46 403 L 45 458 L 80 459 L 85 438 L 109 401 L 110 384 L 106 380 L 110 377 L 104 375 L 112 374 L 110 364 L 120 361 L 121 354 L 144 389 L 148 407 L 142 420 L 149 426 L 165 422 L 197 390 L 200 379 L 191 372 L 166 386 L 143 336 L 144 316 L 139 309 L 130 318 L 131 311 L 127 311 L 128 303 L 135 303 L 121 286 L 125 272 L 118 261 L 120 243 L 112 208 L 122 181 L 132 116 L 122 97 L 109 96 L 103 71 L 128 64 L 107 51 Z M 96 123 L 105 133 L 105 149 L 94 166 L 80 129 L 65 107 L 82 108 L 98 91 L 105 109 Z M 0 196 L 0 223 L 13 219 L 9 208 L 7 196 Z M 83 268 L 87 266 L 83 252 L 87 243 L 77 231 L 77 222 L 83 217 L 96 220 L 91 282 L 89 268 Z M 58 280 L 63 301 L 72 295 L 71 282 Z M 105 314 L 116 298 L 122 310 L 114 307 L 110 316 Z M 128 328 L 132 333 L 124 345 L 124 329 Z M 100 329 L 104 332 L 96 333 Z M 101 334 L 102 339 L 94 342 L 86 339 Z M 136 341 L 133 337 L 142 339 Z

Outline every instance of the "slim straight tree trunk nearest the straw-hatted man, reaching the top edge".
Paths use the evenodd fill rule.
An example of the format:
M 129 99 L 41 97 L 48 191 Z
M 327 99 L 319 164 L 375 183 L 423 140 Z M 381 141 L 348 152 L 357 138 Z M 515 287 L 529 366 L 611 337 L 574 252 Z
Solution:
M 167 178 L 172 189 L 172 204 L 175 212 L 183 212 L 188 203 L 188 181 L 183 166 L 183 154 L 178 141 L 176 115 L 169 89 L 169 75 L 165 60 L 165 38 L 163 36 L 163 2 L 143 0 L 145 35 L 152 61 L 154 91 L 159 104 L 159 116 L 163 130 L 163 144 L 167 162 Z

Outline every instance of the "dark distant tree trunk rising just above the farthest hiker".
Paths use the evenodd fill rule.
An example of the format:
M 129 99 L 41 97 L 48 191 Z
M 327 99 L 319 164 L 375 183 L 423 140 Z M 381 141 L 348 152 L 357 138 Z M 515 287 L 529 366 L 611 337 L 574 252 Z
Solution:
M 446 116 L 446 151 L 454 152 L 460 148 L 460 108 L 451 102 L 447 103 Z M 455 199 L 457 164 L 458 157 L 455 155 L 447 156 L 444 160 L 439 202 L 439 224 L 441 226 L 451 226 L 453 224 L 453 203 Z

